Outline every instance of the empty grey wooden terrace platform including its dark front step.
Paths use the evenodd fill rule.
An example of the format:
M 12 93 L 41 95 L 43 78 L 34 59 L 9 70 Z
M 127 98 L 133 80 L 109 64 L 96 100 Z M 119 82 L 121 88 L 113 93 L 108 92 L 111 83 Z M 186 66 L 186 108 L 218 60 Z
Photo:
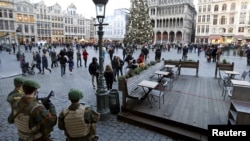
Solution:
M 147 100 L 134 107 L 123 107 L 123 112 L 119 113 L 117 118 L 122 121 L 136 122 L 132 121 L 136 119 L 133 116 L 139 115 L 138 118 L 148 116 L 149 119 L 155 119 L 155 121 L 147 121 L 148 119 L 145 119 L 145 123 L 159 122 L 159 126 L 161 126 L 161 123 L 168 126 L 172 122 L 173 127 L 170 128 L 175 128 L 174 126 L 176 125 L 178 128 L 193 130 L 193 133 L 187 133 L 193 135 L 187 135 L 187 137 L 189 136 L 190 139 L 194 140 L 207 140 L 206 131 L 208 125 L 227 124 L 230 99 L 227 97 L 225 101 L 223 100 L 222 86 L 218 85 L 218 79 L 180 75 L 174 81 L 173 88 L 166 91 L 164 100 L 165 102 L 161 104 L 160 109 L 158 102 L 153 103 L 153 108 L 150 108 Z M 130 119 L 129 116 L 133 118 Z M 149 128 L 153 128 L 152 126 L 149 126 Z M 160 128 L 159 126 L 155 127 L 158 132 L 165 128 Z M 181 133 L 176 134 L 174 133 L 175 130 L 176 132 L 189 132 L 188 130 L 168 130 L 171 130 L 171 133 L 177 135 L 177 137 Z M 197 133 L 195 133 L 196 131 Z M 163 134 L 165 134 L 165 131 L 163 131 Z M 185 138 L 186 133 L 183 134 Z

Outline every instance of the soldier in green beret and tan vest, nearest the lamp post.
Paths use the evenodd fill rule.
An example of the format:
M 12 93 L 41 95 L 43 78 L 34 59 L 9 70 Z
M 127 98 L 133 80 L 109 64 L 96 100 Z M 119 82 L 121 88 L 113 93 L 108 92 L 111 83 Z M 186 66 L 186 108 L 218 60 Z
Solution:
M 65 131 L 66 141 L 93 141 L 96 140 L 96 122 L 100 114 L 87 105 L 80 104 L 83 93 L 71 89 L 68 93 L 71 105 L 59 115 L 58 127 Z

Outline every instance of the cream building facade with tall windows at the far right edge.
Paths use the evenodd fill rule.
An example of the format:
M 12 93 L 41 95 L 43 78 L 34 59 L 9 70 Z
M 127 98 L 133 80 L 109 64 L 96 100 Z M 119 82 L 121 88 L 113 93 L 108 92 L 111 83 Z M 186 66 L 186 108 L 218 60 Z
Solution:
M 250 42 L 249 0 L 198 0 L 197 43 Z

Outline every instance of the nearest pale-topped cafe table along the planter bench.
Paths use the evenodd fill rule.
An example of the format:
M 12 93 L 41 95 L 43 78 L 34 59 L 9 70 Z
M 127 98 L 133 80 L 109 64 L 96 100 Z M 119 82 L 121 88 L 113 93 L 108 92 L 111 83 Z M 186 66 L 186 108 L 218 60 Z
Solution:
M 149 97 L 148 97 L 148 94 L 150 93 L 150 91 L 152 91 L 152 90 L 153 90 L 154 88 L 156 88 L 158 85 L 159 85 L 158 82 L 149 81 L 149 80 L 142 80 L 142 81 L 138 84 L 138 86 L 141 86 L 141 87 L 142 87 L 142 89 L 143 89 L 143 91 L 144 91 L 144 93 L 145 93 L 145 97 L 147 98 L 147 101 L 148 101 L 150 107 L 152 107 L 152 104 L 151 104 L 151 101 L 150 101 L 150 99 L 149 99 Z M 146 91 L 145 88 L 147 88 L 147 91 Z

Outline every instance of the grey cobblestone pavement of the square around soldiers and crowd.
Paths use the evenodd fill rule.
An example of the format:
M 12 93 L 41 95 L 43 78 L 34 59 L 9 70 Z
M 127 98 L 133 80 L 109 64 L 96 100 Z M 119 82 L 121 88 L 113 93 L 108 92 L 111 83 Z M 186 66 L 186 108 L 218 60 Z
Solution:
M 36 50 L 36 48 L 35 48 Z M 59 49 L 57 49 L 59 52 Z M 92 60 L 93 56 L 98 57 L 98 52 L 94 51 L 92 48 L 88 48 L 89 52 L 89 60 L 88 63 Z M 162 57 L 165 59 L 180 59 L 181 54 L 177 54 L 176 50 L 171 50 L 170 52 L 163 52 Z M 137 58 L 139 56 L 140 51 L 136 51 L 134 57 Z M 32 54 L 25 53 L 26 60 L 31 61 Z M 119 55 L 122 57 L 122 50 L 118 50 L 114 55 Z M 150 50 L 150 56 L 148 61 L 154 59 L 154 53 Z M 9 59 L 11 58 L 11 59 Z M 235 70 L 242 72 L 243 70 L 249 70 L 249 66 L 246 66 L 246 58 L 242 57 L 234 57 L 234 56 L 222 56 L 221 59 L 226 58 L 228 61 L 235 62 Z M 9 59 L 9 60 L 8 60 Z M 214 77 L 215 71 L 215 63 L 207 63 L 202 53 L 199 57 L 197 54 L 190 53 L 188 55 L 188 59 L 199 59 L 200 60 L 200 70 L 199 76 L 201 77 Z M 1 53 L 2 63 L 0 64 L 0 74 L 7 75 L 6 71 L 9 71 L 12 75 L 17 75 L 21 73 L 21 70 L 16 63 L 15 56 L 9 55 L 6 52 Z M 5 60 L 9 62 L 6 63 Z M 5 62 L 5 63 L 4 63 Z M 105 64 L 110 63 L 109 55 L 106 54 Z M 6 69 L 7 64 L 10 69 Z M 50 63 L 49 63 L 50 64 Z M 2 65 L 2 66 L 1 66 Z M 126 65 L 125 65 L 126 66 Z M 5 68 L 6 67 L 6 68 Z M 15 69 L 15 71 L 13 71 Z M 4 71 L 4 72 L 3 72 Z M 12 72 L 13 71 L 13 72 Z M 38 72 L 37 69 L 35 69 Z M 193 69 L 183 69 L 183 74 L 195 74 L 195 70 Z M 84 98 L 81 102 L 87 103 L 89 105 L 93 105 L 96 107 L 96 96 L 95 90 L 92 88 L 90 75 L 88 73 L 88 69 L 85 67 L 77 68 L 75 64 L 75 68 L 73 70 L 73 74 L 71 75 L 68 70 L 66 70 L 66 75 L 61 77 L 60 68 L 53 68 L 52 73 L 49 71 L 45 71 L 44 75 L 35 74 L 33 76 L 24 76 L 26 79 L 34 79 L 37 80 L 41 84 L 41 88 L 39 89 L 39 93 L 41 96 L 46 96 L 51 89 L 55 91 L 56 96 L 52 98 L 52 102 L 55 104 L 57 108 L 57 113 L 61 112 L 63 108 L 70 104 L 67 93 L 70 88 L 78 88 L 84 92 Z M 7 123 L 7 116 L 10 113 L 10 106 L 8 105 L 6 98 L 7 94 L 13 89 L 13 78 L 8 77 L 5 78 L 0 77 L 0 141 L 16 141 L 17 140 L 17 129 L 14 125 L 10 125 Z M 117 88 L 117 83 L 114 83 L 113 88 Z M 120 94 L 121 99 L 121 94 Z M 120 102 L 122 103 L 122 102 Z M 97 124 L 97 133 L 100 137 L 100 141 L 171 141 L 173 140 L 170 137 L 165 135 L 146 130 L 144 128 L 140 128 L 137 126 L 133 126 L 124 122 L 117 121 L 115 115 L 111 115 L 107 121 L 100 121 Z M 64 133 L 58 129 L 56 126 L 54 131 L 52 132 L 52 137 L 55 141 L 63 141 L 65 140 Z

